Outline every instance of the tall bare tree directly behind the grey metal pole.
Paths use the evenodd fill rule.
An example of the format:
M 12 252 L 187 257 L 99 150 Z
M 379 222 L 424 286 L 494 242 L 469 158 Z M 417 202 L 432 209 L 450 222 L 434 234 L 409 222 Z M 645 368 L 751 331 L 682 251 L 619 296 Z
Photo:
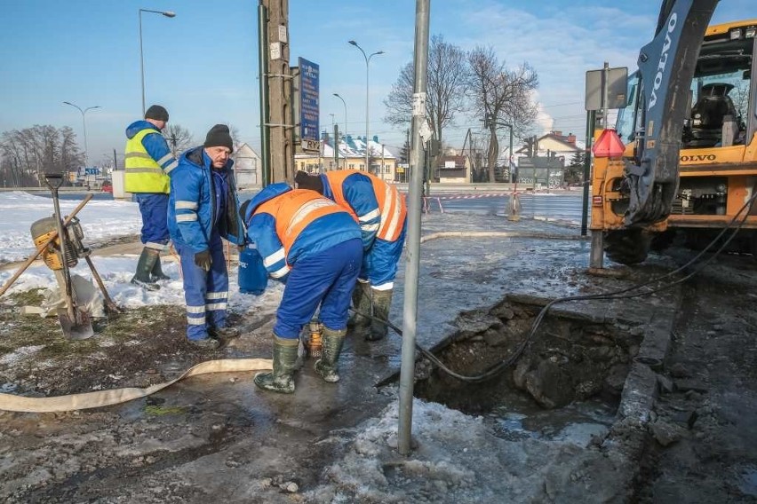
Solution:
M 431 37 L 428 51 L 426 114 L 434 137 L 442 140 L 442 130 L 453 123 L 455 114 L 466 106 L 466 53 L 458 46 L 444 42 L 442 35 Z M 406 125 L 412 119 L 413 66 L 408 63 L 400 71 L 397 82 L 384 100 L 386 122 Z

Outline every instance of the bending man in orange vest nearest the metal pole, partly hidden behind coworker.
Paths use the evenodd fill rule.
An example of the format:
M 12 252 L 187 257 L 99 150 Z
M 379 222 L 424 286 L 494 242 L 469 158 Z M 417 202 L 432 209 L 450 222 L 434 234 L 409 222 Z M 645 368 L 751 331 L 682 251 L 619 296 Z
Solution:
M 363 269 L 352 302 L 356 311 L 372 314 L 375 319 L 356 314 L 353 331 L 368 341 L 382 339 L 388 327 L 379 320 L 389 318 L 394 277 L 405 242 L 407 208 L 402 194 L 379 177 L 352 169 L 323 175 L 298 171 L 294 181 L 301 189 L 311 189 L 336 201 L 360 224 Z

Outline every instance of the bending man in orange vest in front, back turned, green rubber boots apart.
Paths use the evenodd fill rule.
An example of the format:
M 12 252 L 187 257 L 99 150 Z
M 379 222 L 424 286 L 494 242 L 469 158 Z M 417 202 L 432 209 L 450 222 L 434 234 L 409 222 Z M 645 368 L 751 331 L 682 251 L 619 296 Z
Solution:
M 318 193 L 267 185 L 240 213 L 247 240 L 258 248 L 271 278 L 286 283 L 274 326 L 274 369 L 255 375 L 261 389 L 291 394 L 299 333 L 321 305 L 322 357 L 315 372 L 339 382 L 337 361 L 347 335 L 350 295 L 363 261 L 360 228 Z

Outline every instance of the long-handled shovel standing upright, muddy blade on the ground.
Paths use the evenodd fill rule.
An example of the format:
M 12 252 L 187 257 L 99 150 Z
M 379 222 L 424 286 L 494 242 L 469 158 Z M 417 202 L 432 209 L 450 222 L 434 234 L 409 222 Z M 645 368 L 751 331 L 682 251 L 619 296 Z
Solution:
M 50 187 L 52 192 L 52 204 L 55 208 L 55 220 L 58 224 L 58 236 L 60 238 L 60 256 L 63 263 L 63 272 L 56 277 L 62 280 L 63 286 L 66 292 L 66 307 L 58 309 L 58 320 L 60 322 L 60 328 L 63 330 L 63 335 L 69 340 L 85 340 L 92 335 L 92 322 L 89 315 L 84 311 L 79 310 L 74 303 L 74 298 L 71 295 L 71 273 L 68 271 L 68 251 L 73 248 L 68 247 L 68 234 L 63 229 L 63 221 L 60 220 L 60 202 L 58 201 L 58 188 L 63 184 L 63 175 L 60 173 L 45 173 L 44 183 Z

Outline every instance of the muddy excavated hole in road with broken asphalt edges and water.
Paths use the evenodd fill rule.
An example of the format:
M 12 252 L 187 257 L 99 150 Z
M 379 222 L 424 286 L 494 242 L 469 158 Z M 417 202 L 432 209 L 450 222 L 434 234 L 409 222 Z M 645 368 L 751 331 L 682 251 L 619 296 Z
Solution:
M 508 296 L 489 310 L 458 315 L 458 331 L 432 351 L 466 376 L 508 358 L 545 304 Z M 426 358 L 416 365 L 415 395 L 482 415 L 501 437 L 540 437 L 586 444 L 615 420 L 641 327 L 553 309 L 514 366 L 485 382 L 462 382 Z

